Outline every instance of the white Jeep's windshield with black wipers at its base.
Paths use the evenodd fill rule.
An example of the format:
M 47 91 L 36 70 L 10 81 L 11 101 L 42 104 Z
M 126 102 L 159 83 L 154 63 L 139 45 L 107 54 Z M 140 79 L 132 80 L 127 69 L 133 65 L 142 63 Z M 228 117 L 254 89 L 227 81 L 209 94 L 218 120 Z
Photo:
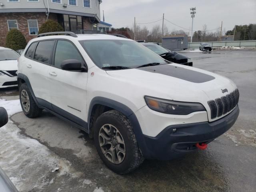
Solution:
M 148 48 L 130 40 L 83 40 L 80 43 L 99 68 L 136 68 L 148 63 L 167 63 Z

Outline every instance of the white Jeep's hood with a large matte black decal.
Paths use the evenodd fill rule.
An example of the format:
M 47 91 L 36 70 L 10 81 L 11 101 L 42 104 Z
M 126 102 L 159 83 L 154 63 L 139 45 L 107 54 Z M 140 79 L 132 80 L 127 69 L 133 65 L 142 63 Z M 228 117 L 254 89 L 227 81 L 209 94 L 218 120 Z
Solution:
M 164 64 L 127 70 L 110 70 L 107 74 L 122 82 L 134 93 L 184 102 L 199 102 L 206 108 L 215 100 L 232 92 L 236 86 L 226 77 L 180 64 Z M 143 90 L 143 91 L 142 91 Z

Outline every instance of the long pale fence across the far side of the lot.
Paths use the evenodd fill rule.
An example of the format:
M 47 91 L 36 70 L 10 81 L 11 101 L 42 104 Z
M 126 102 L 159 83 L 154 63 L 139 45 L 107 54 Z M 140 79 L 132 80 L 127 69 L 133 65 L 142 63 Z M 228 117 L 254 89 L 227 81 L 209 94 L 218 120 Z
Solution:
M 201 42 L 192 42 L 188 43 L 189 49 L 199 49 Z M 212 48 L 218 48 L 222 46 L 234 46 L 234 47 L 241 47 L 244 46 L 246 48 L 256 48 L 256 40 L 251 41 L 218 41 L 218 42 L 206 42 L 209 43 Z

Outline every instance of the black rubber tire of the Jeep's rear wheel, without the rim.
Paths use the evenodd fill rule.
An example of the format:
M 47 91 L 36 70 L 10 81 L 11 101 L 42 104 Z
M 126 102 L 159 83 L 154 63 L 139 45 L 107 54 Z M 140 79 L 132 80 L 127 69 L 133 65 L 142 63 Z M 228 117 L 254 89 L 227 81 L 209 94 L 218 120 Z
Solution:
M 30 92 L 30 89 L 28 88 L 27 84 L 26 83 L 23 83 L 20 88 L 20 105 L 21 105 L 21 108 L 22 108 L 22 111 L 23 113 L 29 117 L 29 118 L 36 118 L 38 116 L 40 116 L 42 114 L 42 109 L 39 108 L 37 105 L 36 105 L 36 102 L 34 101 L 34 98 L 32 97 L 32 94 Z M 25 90 L 28 94 L 28 98 L 29 98 L 29 102 L 30 102 L 30 108 L 28 110 L 28 112 L 26 112 L 22 106 L 22 100 L 21 100 L 21 93 L 22 93 L 22 90 Z

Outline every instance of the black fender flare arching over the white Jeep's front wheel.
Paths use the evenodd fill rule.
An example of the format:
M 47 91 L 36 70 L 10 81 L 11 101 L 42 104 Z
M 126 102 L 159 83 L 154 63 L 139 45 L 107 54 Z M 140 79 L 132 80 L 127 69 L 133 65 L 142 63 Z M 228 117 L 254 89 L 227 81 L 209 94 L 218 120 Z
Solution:
M 117 102 L 115 100 L 109 99 L 109 98 L 104 98 L 104 97 L 94 97 L 91 102 L 90 102 L 90 106 L 89 106 L 89 110 L 88 110 L 88 117 L 87 117 L 87 122 L 88 122 L 88 132 L 90 133 L 90 117 L 92 115 L 92 109 L 96 104 L 100 104 L 100 105 L 104 105 L 110 108 L 113 108 L 114 110 L 117 110 L 119 112 L 121 112 L 122 114 L 124 114 L 131 122 L 132 124 L 132 128 L 134 131 L 134 134 L 136 136 L 136 140 L 138 142 L 138 146 L 142 152 L 142 155 L 144 157 L 147 156 L 148 153 L 148 149 L 144 140 L 144 135 L 142 133 L 140 124 L 138 122 L 138 119 L 136 117 L 136 115 L 134 114 L 134 112 L 126 105 Z

